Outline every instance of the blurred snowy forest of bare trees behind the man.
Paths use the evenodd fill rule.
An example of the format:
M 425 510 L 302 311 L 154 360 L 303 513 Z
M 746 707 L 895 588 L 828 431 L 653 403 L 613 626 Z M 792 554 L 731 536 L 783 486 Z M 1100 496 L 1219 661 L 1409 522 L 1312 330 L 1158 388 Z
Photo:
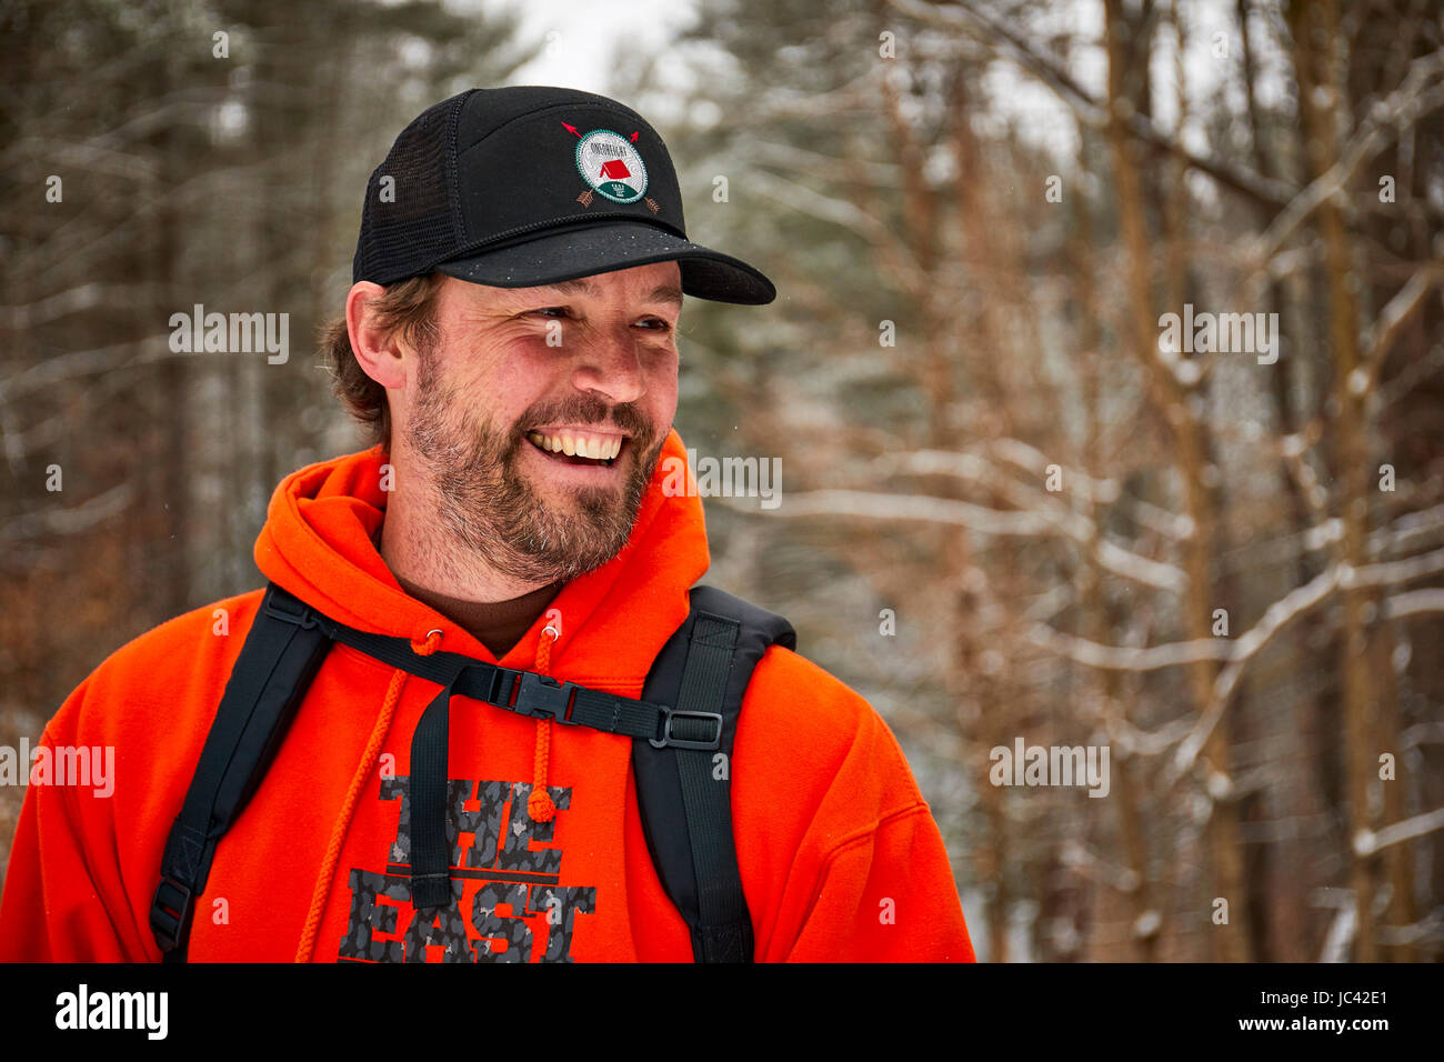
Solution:
M 575 32 L 511 12 L 0 9 L 0 743 L 258 587 L 276 483 L 358 448 L 309 337 L 394 134 Z M 703 0 L 560 82 L 777 282 L 683 314 L 683 439 L 783 468 L 706 501 L 709 581 L 897 733 L 979 958 L 1444 957 L 1441 43 L 1435 0 Z M 193 303 L 292 357 L 173 354 Z M 1161 341 L 1186 305 L 1276 360 Z M 991 785 L 1018 738 L 1108 796 Z

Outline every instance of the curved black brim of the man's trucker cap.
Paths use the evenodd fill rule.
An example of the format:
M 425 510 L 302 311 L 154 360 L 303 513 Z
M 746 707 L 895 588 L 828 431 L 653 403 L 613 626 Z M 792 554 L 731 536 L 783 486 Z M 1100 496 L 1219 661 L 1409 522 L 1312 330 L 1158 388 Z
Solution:
M 627 221 L 542 233 L 526 243 L 487 247 L 443 262 L 436 269 L 491 288 L 540 288 L 654 262 L 676 262 L 683 293 L 697 299 L 762 306 L 777 298 L 773 282 L 745 262 L 656 225 Z

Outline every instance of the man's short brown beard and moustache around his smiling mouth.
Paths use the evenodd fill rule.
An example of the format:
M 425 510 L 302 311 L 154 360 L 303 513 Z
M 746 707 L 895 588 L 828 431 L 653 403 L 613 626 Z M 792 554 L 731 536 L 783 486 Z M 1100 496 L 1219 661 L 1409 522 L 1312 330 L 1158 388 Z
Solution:
M 631 536 L 647 484 L 667 441 L 635 405 L 608 406 L 593 394 L 539 403 L 505 431 L 465 413 L 456 387 L 436 373 L 435 348 L 417 350 L 416 405 L 406 438 L 438 498 L 440 526 L 465 553 L 523 582 L 572 579 L 601 568 Z M 586 487 L 559 509 L 531 488 L 520 468 L 523 432 L 534 425 L 609 426 L 630 438 L 632 465 L 618 493 Z M 565 503 L 563 503 L 565 504 Z

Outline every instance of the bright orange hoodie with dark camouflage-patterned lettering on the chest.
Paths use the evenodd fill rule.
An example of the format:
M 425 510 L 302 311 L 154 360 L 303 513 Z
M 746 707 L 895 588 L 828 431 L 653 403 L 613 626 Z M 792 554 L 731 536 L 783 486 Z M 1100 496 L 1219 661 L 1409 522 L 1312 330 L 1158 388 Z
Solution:
M 676 432 L 663 457 L 686 461 Z M 403 592 L 377 552 L 383 459 L 373 448 L 289 475 L 257 565 L 344 624 L 497 662 Z M 661 470 L 622 552 L 569 582 L 500 663 L 641 695 L 709 562 L 700 501 L 664 493 Z M 46 747 L 113 747 L 114 785 L 107 796 L 52 777 L 27 790 L 0 959 L 160 958 L 149 913 L 162 851 L 260 598 L 218 601 L 130 642 L 46 725 Z M 553 610 L 554 640 L 543 634 Z M 414 916 L 410 743 L 438 689 L 332 647 L 217 847 L 191 961 L 690 962 L 686 923 L 647 851 L 631 738 L 553 730 L 461 696 L 448 776 L 462 896 L 430 920 Z M 546 800 L 529 811 L 539 777 L 550 818 Z M 853 691 L 780 646 L 742 707 L 732 808 L 758 961 L 973 959 L 947 854 L 892 734 Z

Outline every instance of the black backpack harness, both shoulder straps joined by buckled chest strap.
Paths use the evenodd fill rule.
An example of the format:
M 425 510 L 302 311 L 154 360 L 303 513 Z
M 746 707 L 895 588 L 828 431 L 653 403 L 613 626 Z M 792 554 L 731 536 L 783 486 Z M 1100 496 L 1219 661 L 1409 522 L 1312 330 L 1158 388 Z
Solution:
M 165 961 L 185 961 L 193 903 L 205 890 L 215 845 L 251 799 L 326 652 L 339 640 L 446 685 L 438 696 L 443 705 L 459 692 L 521 715 L 632 737 L 647 845 L 663 887 L 692 929 L 696 959 L 749 962 L 752 925 L 732 839 L 732 738 L 762 653 L 774 642 L 793 649 L 797 637 L 783 617 L 710 587 L 695 587 L 690 604 L 687 620 L 653 663 L 643 699 L 631 701 L 452 653 L 419 657 L 401 644 L 404 639 L 351 630 L 267 585 L 166 841 L 150 907 L 150 929 Z M 443 772 L 445 760 L 442 777 Z

